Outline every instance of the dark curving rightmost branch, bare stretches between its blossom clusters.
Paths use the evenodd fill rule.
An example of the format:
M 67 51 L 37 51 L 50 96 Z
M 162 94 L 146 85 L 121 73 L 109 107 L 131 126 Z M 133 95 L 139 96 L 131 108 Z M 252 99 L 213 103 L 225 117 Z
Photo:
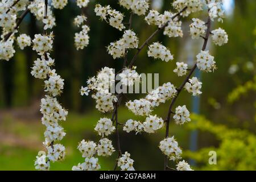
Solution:
M 207 46 L 209 35 L 210 35 L 210 18 L 208 17 L 208 20 L 207 20 L 207 33 L 205 35 L 202 51 L 204 51 L 206 46 Z M 189 78 L 191 77 L 191 75 L 193 74 L 195 69 L 196 69 L 196 63 L 193 65 L 193 67 L 191 68 L 191 71 L 188 73 L 187 77 L 185 77 L 185 80 L 182 82 L 182 84 L 179 86 L 179 88 L 176 89 L 177 90 L 177 94 L 176 94 L 176 96 L 171 101 L 171 104 L 170 104 L 170 107 L 169 107 L 169 110 L 168 110 L 168 114 L 167 114 L 167 118 L 166 118 L 166 138 L 169 137 L 169 125 L 170 125 L 170 118 L 171 118 L 171 114 L 172 114 L 172 107 L 174 106 L 177 97 L 179 96 L 181 90 L 184 88 L 186 82 L 188 82 Z M 168 159 L 167 159 L 167 156 L 165 155 L 164 156 L 164 170 L 167 169 L 167 166 L 168 166 Z

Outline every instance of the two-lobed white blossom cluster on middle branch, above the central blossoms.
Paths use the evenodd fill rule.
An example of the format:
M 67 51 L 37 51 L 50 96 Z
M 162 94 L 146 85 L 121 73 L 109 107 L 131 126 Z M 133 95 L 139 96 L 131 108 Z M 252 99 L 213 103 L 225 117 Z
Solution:
M 108 52 L 114 59 L 125 56 L 126 49 L 138 48 L 139 40 L 131 30 L 126 30 L 121 39 L 110 43 Z

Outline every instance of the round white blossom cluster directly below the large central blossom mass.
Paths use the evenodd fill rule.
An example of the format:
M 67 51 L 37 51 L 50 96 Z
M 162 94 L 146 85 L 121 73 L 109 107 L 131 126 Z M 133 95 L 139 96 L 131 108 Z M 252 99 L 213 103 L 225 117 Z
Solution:
M 109 118 L 101 118 L 98 122 L 96 127 L 94 128 L 95 131 L 102 137 L 108 136 L 115 130 L 111 119 Z

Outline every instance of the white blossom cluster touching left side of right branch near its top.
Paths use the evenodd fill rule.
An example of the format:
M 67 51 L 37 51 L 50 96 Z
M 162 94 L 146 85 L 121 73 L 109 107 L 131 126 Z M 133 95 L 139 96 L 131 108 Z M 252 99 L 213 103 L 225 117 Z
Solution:
M 198 18 L 192 18 L 192 23 L 189 25 L 189 27 L 192 39 L 198 39 L 200 36 L 204 36 L 205 30 L 207 30 L 205 23 Z

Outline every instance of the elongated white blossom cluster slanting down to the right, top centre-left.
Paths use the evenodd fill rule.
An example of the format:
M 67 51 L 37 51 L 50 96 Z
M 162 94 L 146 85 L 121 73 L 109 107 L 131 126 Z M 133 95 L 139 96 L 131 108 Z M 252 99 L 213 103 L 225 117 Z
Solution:
M 94 9 L 97 16 L 100 16 L 101 19 L 106 20 L 110 24 L 110 26 L 117 28 L 118 30 L 123 30 L 125 26 L 123 25 L 123 14 L 119 11 L 112 9 L 108 6 L 101 6 L 97 4 Z

